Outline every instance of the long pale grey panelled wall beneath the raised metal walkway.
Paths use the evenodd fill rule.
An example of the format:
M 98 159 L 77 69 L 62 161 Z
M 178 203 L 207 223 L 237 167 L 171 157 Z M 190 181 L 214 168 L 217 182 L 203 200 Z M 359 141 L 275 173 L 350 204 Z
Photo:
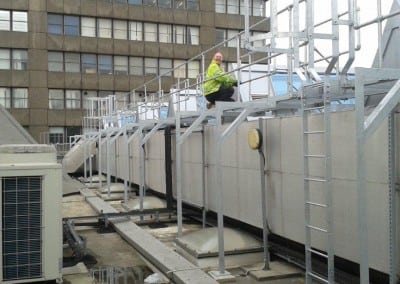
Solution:
M 322 117 L 315 115 L 311 124 L 317 125 Z M 332 113 L 332 177 L 333 177 L 333 206 L 335 226 L 335 251 L 338 256 L 352 261 L 358 261 L 358 246 L 352 240 L 358 240 L 357 233 L 357 194 L 356 194 L 356 156 L 355 156 L 355 116 L 354 111 L 341 111 Z M 396 117 L 399 120 L 399 117 Z M 266 157 L 269 157 L 269 171 L 267 172 L 267 202 L 268 221 L 273 233 L 279 234 L 294 241 L 304 241 L 304 204 L 301 172 L 300 149 L 300 117 L 273 118 L 266 121 Z M 234 134 L 224 144 L 224 155 L 230 155 L 230 161 L 222 166 L 224 214 L 261 228 L 259 212 L 259 186 L 258 156 L 247 149 L 247 129 L 254 123 L 243 123 L 238 128 L 239 134 Z M 387 232 L 387 124 L 384 123 L 374 133 L 366 145 L 366 178 L 367 178 L 367 208 L 368 208 L 368 232 L 369 250 L 374 257 L 370 259 L 372 268 L 380 271 L 388 271 L 387 253 L 379 247 L 388 244 Z M 199 139 L 197 134 L 195 140 Z M 213 127 L 206 127 L 206 192 L 207 205 L 210 210 L 216 211 L 215 188 L 215 159 L 214 150 L 210 144 L 214 142 Z M 400 134 L 398 134 L 400 135 Z M 190 137 L 191 138 L 191 137 Z M 184 172 L 184 200 L 201 205 L 201 167 L 198 163 L 198 153 L 201 151 L 197 141 L 191 139 L 183 145 Z M 264 137 L 265 138 L 265 137 Z M 159 142 L 152 141 L 158 139 Z M 163 144 L 162 134 L 155 135 L 149 140 L 151 145 Z M 235 141 L 231 141 L 235 140 Z M 131 143 L 132 160 L 131 175 L 135 182 L 139 181 L 138 175 L 138 148 L 137 143 Z M 187 145 L 186 145 L 187 144 Z M 174 144 L 173 144 L 174 145 Z M 187 148 L 185 148 L 187 147 Z M 197 149 L 197 147 L 200 147 Z M 398 146 L 399 147 L 399 146 Z M 104 148 L 104 147 L 103 147 Z M 297 149 L 297 150 L 296 150 Z M 189 151 L 190 150 L 190 151 Z M 151 150 L 150 150 L 151 151 Z M 174 151 L 174 150 L 173 150 Z M 159 176 L 164 172 L 163 157 L 158 157 L 155 152 L 154 160 L 149 165 L 154 168 L 154 190 L 163 192 L 158 182 Z M 247 155 L 247 156 L 246 156 Z M 243 161 L 243 164 L 241 163 Z M 159 163 L 157 166 L 157 162 Z M 153 165 L 154 163 L 154 165 Z M 254 164 L 254 169 L 252 168 Z M 246 166 L 244 166 L 246 165 Z M 158 172 L 157 172 L 157 169 Z M 148 168 L 149 170 L 149 168 Z M 136 171 L 136 172 L 135 172 Z M 174 167 L 173 167 L 174 171 Z M 173 174 L 174 175 L 174 174 Z M 190 175 L 188 177 L 188 175 Z M 148 176 L 150 177 L 150 176 Z M 174 178 L 174 177 L 173 177 Z M 152 178 L 150 178 L 152 179 Z M 164 177 L 162 177 L 164 179 Z M 175 181 L 174 181 L 175 182 Z M 151 183 L 153 185 L 153 183 Z M 376 243 L 382 246 L 376 246 Z M 322 241 L 317 244 L 324 248 Z

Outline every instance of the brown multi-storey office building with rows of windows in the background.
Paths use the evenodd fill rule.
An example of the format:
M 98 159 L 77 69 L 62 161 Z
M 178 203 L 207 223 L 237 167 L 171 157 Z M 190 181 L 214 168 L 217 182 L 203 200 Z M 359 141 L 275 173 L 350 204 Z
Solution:
M 264 0 L 249 3 L 251 23 L 265 19 Z M 244 13 L 244 0 L 2 0 L 0 104 L 38 142 L 79 134 L 87 98 L 195 78 L 200 61 L 168 70 L 243 30 Z

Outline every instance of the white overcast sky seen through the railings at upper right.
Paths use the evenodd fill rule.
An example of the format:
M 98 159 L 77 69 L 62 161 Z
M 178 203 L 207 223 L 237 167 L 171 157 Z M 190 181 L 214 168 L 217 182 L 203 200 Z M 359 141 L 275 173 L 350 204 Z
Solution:
M 375 19 L 378 15 L 378 1 L 379 0 L 358 0 L 357 6 L 360 8 L 360 23 L 365 23 L 369 20 Z M 393 1 L 400 0 L 381 0 L 382 4 L 382 15 L 387 15 L 390 11 Z M 278 10 L 283 9 L 288 4 L 293 3 L 293 0 L 279 0 L 278 2 Z M 268 2 L 267 2 L 268 3 Z M 315 3 L 315 19 L 314 22 L 318 23 L 326 20 L 330 17 L 330 0 L 314 0 Z M 339 13 L 347 11 L 347 3 L 348 0 L 338 0 Z M 305 3 L 301 4 L 300 13 L 304 16 L 304 7 Z M 269 13 L 269 6 L 267 4 L 267 14 Z M 360 32 L 360 40 L 361 40 L 361 50 L 356 53 L 356 60 L 353 63 L 353 67 L 371 67 L 373 58 L 375 57 L 377 51 L 377 37 L 378 37 L 378 28 L 377 24 L 373 24 L 372 26 L 363 28 Z M 305 24 L 304 20 L 300 23 L 300 29 L 304 29 Z M 318 28 L 316 32 L 329 32 L 329 25 L 325 25 L 323 27 Z M 284 13 L 278 18 L 278 31 L 285 32 L 288 31 L 288 14 Z M 340 50 L 345 51 L 348 50 L 347 44 L 348 33 L 347 29 L 342 27 L 340 29 Z M 287 41 L 286 41 L 287 42 Z M 284 40 L 278 42 L 278 45 L 281 47 L 287 46 Z M 317 48 L 323 52 L 324 54 L 331 54 L 330 43 L 326 40 L 316 41 Z M 303 53 L 302 53 L 303 54 Z M 281 58 L 281 60 L 284 60 Z M 343 57 L 340 61 L 341 65 L 344 64 L 346 58 Z M 279 63 L 278 63 L 279 64 Z M 280 65 L 280 64 L 279 64 Z

